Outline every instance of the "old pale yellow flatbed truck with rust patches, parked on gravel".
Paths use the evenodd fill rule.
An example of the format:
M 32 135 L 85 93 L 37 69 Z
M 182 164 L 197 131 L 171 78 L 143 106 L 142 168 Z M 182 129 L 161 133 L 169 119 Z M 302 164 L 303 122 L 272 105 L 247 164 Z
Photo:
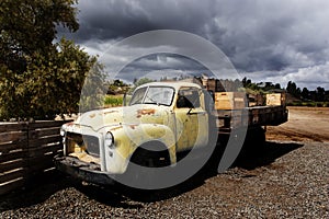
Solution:
M 55 164 L 79 180 L 113 184 L 129 172 L 132 163 L 175 169 L 193 148 L 206 151 L 212 139 L 223 147 L 218 142 L 241 127 L 247 128 L 247 138 L 257 134 L 264 139 L 262 126 L 287 120 L 285 104 L 218 110 L 220 100 L 213 95 L 212 102 L 209 96 L 203 85 L 192 82 L 140 85 L 127 106 L 87 112 L 65 124 L 64 153 Z M 133 180 L 138 174 L 139 178 L 150 175 L 137 170 Z

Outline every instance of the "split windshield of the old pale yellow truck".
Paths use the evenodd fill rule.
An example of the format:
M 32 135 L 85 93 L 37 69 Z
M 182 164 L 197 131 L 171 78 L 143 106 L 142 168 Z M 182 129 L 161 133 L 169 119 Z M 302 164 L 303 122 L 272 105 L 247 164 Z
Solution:
M 147 87 L 137 89 L 131 100 L 129 105 L 135 104 L 158 104 L 170 106 L 174 90 L 169 87 Z

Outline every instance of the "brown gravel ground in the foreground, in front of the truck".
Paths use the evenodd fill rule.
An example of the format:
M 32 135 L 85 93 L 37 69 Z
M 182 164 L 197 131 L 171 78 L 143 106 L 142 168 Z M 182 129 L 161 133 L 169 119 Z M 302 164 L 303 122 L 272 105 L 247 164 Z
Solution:
M 0 218 L 328 218 L 328 162 L 329 143 L 272 141 L 223 174 L 155 194 L 57 178 L 1 197 Z

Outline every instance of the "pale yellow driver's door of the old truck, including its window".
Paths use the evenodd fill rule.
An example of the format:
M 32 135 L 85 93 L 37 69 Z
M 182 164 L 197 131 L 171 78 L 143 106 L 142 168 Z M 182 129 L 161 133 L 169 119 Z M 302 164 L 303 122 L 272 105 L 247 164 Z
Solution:
M 178 151 L 191 150 L 193 147 L 207 143 L 207 113 L 202 107 L 202 91 L 197 88 L 181 88 L 178 93 L 175 106 Z

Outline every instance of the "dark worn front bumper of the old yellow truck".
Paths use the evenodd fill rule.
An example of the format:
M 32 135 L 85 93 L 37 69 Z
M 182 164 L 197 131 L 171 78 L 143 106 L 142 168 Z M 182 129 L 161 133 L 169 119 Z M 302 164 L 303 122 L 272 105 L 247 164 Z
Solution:
M 98 185 L 114 185 L 115 174 L 106 174 L 101 170 L 101 166 L 95 163 L 82 162 L 73 157 L 55 157 L 54 163 L 57 170 L 63 171 L 76 178 L 98 184 Z

